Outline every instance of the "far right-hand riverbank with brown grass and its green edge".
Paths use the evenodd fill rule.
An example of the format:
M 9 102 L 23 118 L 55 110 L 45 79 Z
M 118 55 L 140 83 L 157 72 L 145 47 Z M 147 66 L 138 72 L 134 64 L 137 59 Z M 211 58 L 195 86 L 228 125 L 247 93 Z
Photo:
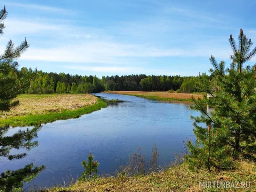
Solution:
M 194 98 L 203 98 L 204 93 L 169 93 L 168 91 L 158 91 L 158 92 L 143 92 L 143 91 L 105 91 L 104 93 L 113 93 L 121 95 L 132 95 L 137 97 L 142 97 L 152 100 L 161 101 L 192 101 L 191 96 Z

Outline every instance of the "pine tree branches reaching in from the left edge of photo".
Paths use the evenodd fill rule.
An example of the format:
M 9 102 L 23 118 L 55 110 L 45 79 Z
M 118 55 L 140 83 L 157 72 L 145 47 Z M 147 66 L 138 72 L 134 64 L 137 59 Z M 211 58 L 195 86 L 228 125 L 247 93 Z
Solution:
M 0 10 L 0 35 L 3 34 L 3 20 L 6 16 L 7 12 L 4 7 Z M 10 110 L 10 108 L 17 106 L 19 100 L 15 100 L 16 96 L 29 86 L 29 82 L 31 78 L 33 78 L 33 76 L 29 79 L 23 76 L 24 68 L 21 70 L 19 76 L 17 76 L 15 72 L 17 71 L 18 66 L 18 61 L 16 59 L 22 52 L 26 51 L 27 48 L 27 39 L 25 39 L 25 41 L 18 47 L 15 47 L 10 40 L 6 45 L 4 54 L 0 56 L 0 111 Z M 29 150 L 37 146 L 37 141 L 33 141 L 33 139 L 37 137 L 40 125 L 33 129 L 24 131 L 19 130 L 13 135 L 5 136 L 10 129 L 11 127 L 9 125 L 0 127 L 0 156 L 8 158 L 9 160 L 21 159 L 27 154 L 14 154 L 15 151 L 20 148 Z M 6 172 L 2 172 L 0 175 L 0 190 L 12 191 L 14 188 L 21 188 L 23 182 L 29 182 L 43 169 L 44 166 L 34 167 L 31 163 L 19 170 L 6 170 Z

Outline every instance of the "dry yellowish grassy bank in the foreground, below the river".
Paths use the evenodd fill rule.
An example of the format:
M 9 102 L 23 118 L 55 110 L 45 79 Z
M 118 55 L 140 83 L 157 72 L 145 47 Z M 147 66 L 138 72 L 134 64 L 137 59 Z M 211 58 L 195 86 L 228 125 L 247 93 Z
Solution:
M 183 163 L 150 175 L 126 177 L 124 174 L 119 174 L 116 177 L 101 177 L 95 181 L 77 182 L 70 187 L 55 187 L 46 191 L 256 191 L 256 165 L 245 161 L 238 164 L 237 170 L 209 173 L 206 171 L 193 172 L 186 163 Z M 204 181 L 247 181 L 250 182 L 250 188 L 207 189 L 200 188 L 199 181 L 202 183 Z M 241 187 L 240 183 L 238 187 Z

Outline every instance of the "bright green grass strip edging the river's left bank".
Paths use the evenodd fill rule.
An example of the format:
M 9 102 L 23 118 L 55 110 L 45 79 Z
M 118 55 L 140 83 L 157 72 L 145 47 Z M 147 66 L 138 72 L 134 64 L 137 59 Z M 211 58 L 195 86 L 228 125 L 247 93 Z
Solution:
M 36 96 L 35 96 L 36 97 Z M 81 115 L 92 113 L 93 111 L 100 110 L 107 107 L 107 103 L 101 99 L 97 99 L 98 102 L 84 108 L 78 108 L 75 110 L 63 109 L 61 112 L 48 112 L 45 114 L 37 115 L 25 115 L 25 116 L 12 116 L 6 119 L 0 120 L 0 126 L 9 124 L 10 126 L 33 126 L 53 122 L 60 119 L 78 118 Z

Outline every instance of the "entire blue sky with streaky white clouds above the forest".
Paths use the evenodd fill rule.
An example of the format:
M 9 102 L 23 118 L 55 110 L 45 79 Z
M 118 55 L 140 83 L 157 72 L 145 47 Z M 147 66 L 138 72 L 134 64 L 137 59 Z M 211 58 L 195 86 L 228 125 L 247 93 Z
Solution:
M 198 75 L 211 54 L 229 65 L 229 33 L 256 41 L 255 1 L 0 1 L 20 66 L 79 75 Z M 238 5 L 239 4 L 239 5 Z M 255 63 L 254 58 L 248 64 Z

